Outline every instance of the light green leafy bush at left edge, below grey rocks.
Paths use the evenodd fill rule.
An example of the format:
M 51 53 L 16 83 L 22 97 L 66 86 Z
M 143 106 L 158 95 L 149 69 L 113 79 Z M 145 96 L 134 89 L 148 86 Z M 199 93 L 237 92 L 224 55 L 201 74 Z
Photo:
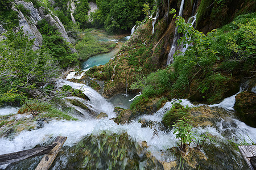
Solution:
M 21 100 L 30 90 L 55 82 L 60 70 L 47 50 L 32 50 L 33 40 L 22 29 L 5 36 L 0 42 L 0 102 Z

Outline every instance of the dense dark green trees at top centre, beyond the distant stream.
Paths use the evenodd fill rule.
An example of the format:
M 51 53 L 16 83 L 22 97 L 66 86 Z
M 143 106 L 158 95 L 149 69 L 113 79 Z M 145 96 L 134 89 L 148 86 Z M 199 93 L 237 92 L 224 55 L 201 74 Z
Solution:
M 92 13 L 92 24 L 108 32 L 130 30 L 137 20 L 143 19 L 143 4 L 140 0 L 98 0 L 98 10 Z M 152 7 L 153 1 L 148 1 Z

